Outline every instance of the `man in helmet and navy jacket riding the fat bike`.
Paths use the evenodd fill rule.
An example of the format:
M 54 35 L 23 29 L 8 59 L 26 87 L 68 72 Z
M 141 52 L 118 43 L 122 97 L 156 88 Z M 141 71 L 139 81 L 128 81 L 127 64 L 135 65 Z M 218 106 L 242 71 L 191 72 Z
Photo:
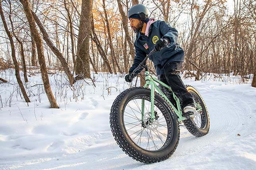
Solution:
M 179 76 L 184 62 L 184 51 L 177 44 L 178 32 L 166 22 L 148 18 L 148 15 L 148 9 L 142 4 L 132 6 L 128 11 L 131 28 L 137 36 L 134 43 L 135 59 L 129 69 L 129 74 L 125 76 L 125 81 L 131 82 L 133 80 L 131 77 L 133 70 L 139 66 L 150 51 L 155 49 L 157 52 L 149 59 L 154 63 L 158 79 L 169 85 L 176 96 L 181 99 L 182 108 L 186 113 L 183 116 L 195 116 L 198 112 L 194 106 L 193 98 Z M 139 74 L 141 70 L 135 72 L 135 75 Z M 168 93 L 162 85 L 160 85 L 160 89 L 165 94 Z M 170 94 L 168 98 L 171 102 L 174 101 Z

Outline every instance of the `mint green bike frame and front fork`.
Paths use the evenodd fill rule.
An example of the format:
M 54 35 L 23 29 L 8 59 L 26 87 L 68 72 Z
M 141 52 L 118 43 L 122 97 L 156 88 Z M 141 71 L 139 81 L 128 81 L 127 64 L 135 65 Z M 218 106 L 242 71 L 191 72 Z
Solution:
M 166 85 L 165 83 L 163 83 L 162 81 L 159 81 L 158 79 L 156 79 L 155 77 L 150 76 L 149 72 L 146 71 L 145 72 L 146 75 L 146 84 L 144 85 L 145 88 L 148 88 L 150 86 L 151 89 L 151 119 L 150 121 L 153 122 L 155 119 L 155 114 L 154 114 L 154 100 L 155 100 L 155 90 L 164 98 L 167 100 L 167 102 L 169 103 L 169 105 L 171 105 L 171 108 L 173 109 L 173 111 L 176 113 L 176 115 L 178 116 L 178 121 L 181 122 L 183 120 L 185 120 L 186 118 L 182 116 L 182 111 L 181 111 L 181 105 L 179 102 L 179 98 L 177 98 L 177 96 L 173 94 L 173 98 L 177 103 L 177 109 L 173 106 L 173 104 L 170 102 L 170 100 L 167 98 L 167 96 L 162 93 L 162 91 L 158 88 L 158 86 L 156 85 L 156 82 L 163 85 L 164 87 L 166 87 L 167 89 L 171 90 L 171 87 L 169 87 L 168 85 Z M 143 117 L 144 117 L 144 104 L 145 104 L 145 100 L 142 99 L 142 104 L 141 104 L 141 111 L 142 111 L 142 115 L 141 115 L 141 120 L 143 121 Z M 202 107 L 197 104 L 196 102 L 194 102 L 195 106 L 198 106 L 198 110 L 202 110 Z

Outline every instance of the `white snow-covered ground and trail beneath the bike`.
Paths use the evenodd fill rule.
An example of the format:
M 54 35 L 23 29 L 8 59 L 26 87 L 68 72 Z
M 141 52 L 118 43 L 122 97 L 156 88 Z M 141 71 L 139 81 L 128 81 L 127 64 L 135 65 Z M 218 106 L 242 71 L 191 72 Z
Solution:
M 185 83 L 204 98 L 210 131 L 196 138 L 181 127 L 179 145 L 166 161 L 144 164 L 119 148 L 109 125 L 110 108 L 119 92 L 104 99 L 96 90 L 84 100 L 60 103 L 61 110 L 48 109 L 47 102 L 30 107 L 16 102 L 2 108 L 0 170 L 255 169 L 256 89 L 221 82 Z

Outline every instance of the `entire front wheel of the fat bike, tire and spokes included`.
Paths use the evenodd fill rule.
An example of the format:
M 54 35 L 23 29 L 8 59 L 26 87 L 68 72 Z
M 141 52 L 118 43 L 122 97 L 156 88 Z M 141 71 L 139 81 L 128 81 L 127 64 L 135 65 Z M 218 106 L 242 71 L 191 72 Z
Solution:
M 110 127 L 119 147 L 133 159 L 146 163 L 169 158 L 179 143 L 175 113 L 166 100 L 155 93 L 155 119 L 150 121 L 150 99 L 150 89 L 127 89 L 117 96 L 110 112 Z

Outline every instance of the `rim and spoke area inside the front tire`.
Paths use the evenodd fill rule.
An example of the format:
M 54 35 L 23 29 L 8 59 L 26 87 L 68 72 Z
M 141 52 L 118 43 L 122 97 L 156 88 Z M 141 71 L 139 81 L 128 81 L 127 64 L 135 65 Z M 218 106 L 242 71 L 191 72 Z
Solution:
M 171 119 L 165 113 L 164 107 L 160 107 L 161 104 L 155 99 L 154 111 L 157 112 L 159 118 L 151 125 L 142 127 L 142 99 L 144 99 L 143 122 L 150 118 L 150 97 L 144 95 L 134 96 L 125 104 L 123 109 L 125 131 L 133 143 L 141 149 L 151 152 L 162 150 L 172 138 L 173 127 Z M 167 119 L 169 120 L 167 121 Z

